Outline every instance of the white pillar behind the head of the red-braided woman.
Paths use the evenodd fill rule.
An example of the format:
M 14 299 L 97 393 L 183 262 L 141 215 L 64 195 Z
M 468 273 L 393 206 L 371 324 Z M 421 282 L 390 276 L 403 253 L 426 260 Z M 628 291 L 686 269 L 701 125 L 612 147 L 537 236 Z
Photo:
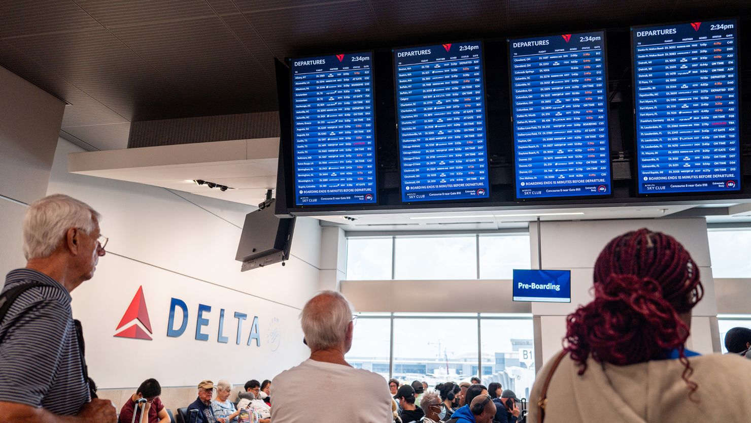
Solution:
M 701 353 L 719 352 L 719 343 L 711 328 L 716 328 L 717 301 L 704 219 L 635 219 L 578 222 L 542 222 L 542 267 L 572 270 L 572 302 L 532 303 L 535 327 L 541 337 L 535 339 L 537 368 L 561 349 L 566 334 L 566 316 L 592 298 L 593 266 L 605 245 L 627 231 L 650 228 L 675 237 L 691 253 L 698 264 L 704 285 L 704 300 L 692 310 L 692 337 L 687 346 Z M 532 268 L 538 267 L 537 226 L 530 225 L 529 240 Z M 716 329 L 715 329 L 716 331 Z

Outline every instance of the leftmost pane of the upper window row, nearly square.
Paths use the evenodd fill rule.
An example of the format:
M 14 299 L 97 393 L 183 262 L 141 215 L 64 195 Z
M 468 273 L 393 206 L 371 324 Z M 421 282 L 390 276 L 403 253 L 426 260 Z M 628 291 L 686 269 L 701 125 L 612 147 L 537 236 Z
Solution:
M 391 278 L 392 237 L 350 238 L 347 240 L 347 279 L 382 280 Z

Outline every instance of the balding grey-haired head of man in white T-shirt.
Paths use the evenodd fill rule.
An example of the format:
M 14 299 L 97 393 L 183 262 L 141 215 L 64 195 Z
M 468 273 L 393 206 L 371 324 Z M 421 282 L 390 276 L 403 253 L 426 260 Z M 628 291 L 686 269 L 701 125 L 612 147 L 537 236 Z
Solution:
M 324 291 L 315 295 L 303 307 L 300 320 L 310 349 L 343 347 L 348 350 L 351 346 L 352 307 L 339 292 Z

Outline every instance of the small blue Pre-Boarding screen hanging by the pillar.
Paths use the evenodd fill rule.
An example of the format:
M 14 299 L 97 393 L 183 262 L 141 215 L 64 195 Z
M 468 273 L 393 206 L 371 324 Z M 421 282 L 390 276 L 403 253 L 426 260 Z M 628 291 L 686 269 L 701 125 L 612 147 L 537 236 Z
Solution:
M 514 301 L 571 302 L 571 270 L 514 269 Z

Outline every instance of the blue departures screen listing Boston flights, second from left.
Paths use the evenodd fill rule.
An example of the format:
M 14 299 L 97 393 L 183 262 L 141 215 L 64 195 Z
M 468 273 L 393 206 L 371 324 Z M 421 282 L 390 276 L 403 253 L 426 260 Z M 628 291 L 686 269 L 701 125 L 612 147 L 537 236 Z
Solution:
M 394 50 L 402 201 L 487 198 L 480 41 Z

